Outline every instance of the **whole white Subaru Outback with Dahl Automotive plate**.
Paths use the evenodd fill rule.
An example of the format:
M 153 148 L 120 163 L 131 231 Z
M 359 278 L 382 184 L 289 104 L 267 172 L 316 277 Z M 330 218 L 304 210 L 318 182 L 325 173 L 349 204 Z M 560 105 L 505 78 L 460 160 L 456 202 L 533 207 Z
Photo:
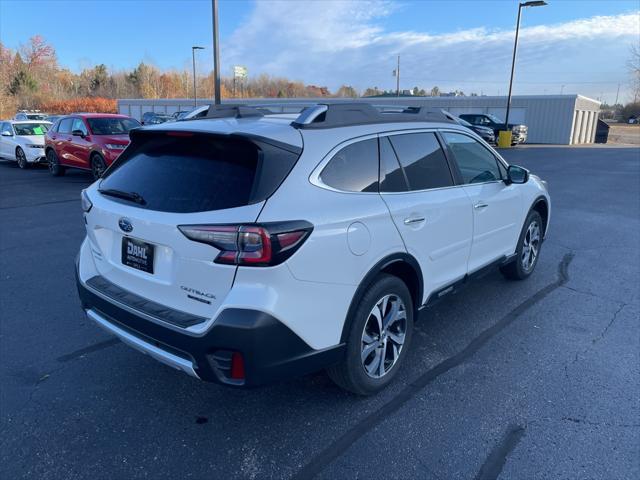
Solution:
M 419 310 L 490 267 L 529 276 L 549 223 L 544 182 L 420 108 L 219 106 L 131 140 L 82 193 L 82 306 L 232 386 L 327 369 L 380 390 Z

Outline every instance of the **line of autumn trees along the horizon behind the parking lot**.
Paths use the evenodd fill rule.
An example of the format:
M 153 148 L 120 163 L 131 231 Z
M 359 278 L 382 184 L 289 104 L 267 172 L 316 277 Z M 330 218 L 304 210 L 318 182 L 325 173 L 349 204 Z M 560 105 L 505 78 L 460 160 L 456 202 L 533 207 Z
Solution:
M 198 96 L 213 97 L 214 75 L 198 75 Z M 383 93 L 377 87 L 365 95 Z M 332 92 L 325 86 L 270 75 L 242 79 L 221 78 L 222 98 L 355 98 L 350 85 Z M 160 70 L 140 62 L 133 70 L 112 71 L 104 64 L 72 72 L 58 65 L 55 49 L 36 35 L 12 50 L 0 43 L 0 117 L 11 117 L 18 108 L 47 109 L 52 113 L 77 110 L 112 111 L 116 98 L 190 98 L 193 78 L 190 69 Z M 93 99 L 93 100 L 92 100 Z M 82 107 L 82 108 L 80 108 Z

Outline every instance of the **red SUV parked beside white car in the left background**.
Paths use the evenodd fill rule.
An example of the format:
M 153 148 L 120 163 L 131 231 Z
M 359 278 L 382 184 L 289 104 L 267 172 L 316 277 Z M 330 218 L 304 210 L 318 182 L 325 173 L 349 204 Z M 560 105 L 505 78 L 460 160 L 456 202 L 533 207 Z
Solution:
M 140 123 L 126 115 L 78 113 L 62 117 L 45 136 L 49 171 L 64 175 L 67 167 L 91 170 L 94 179 L 129 145 L 129 131 Z

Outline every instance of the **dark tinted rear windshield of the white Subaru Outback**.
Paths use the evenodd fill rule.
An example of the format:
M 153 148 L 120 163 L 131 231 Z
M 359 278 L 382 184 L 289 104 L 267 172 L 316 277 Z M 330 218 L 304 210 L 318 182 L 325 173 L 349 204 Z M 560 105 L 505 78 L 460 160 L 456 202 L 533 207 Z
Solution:
M 240 138 L 145 134 L 107 170 L 99 190 L 116 191 L 111 199 L 149 210 L 222 210 L 266 199 L 297 158 Z

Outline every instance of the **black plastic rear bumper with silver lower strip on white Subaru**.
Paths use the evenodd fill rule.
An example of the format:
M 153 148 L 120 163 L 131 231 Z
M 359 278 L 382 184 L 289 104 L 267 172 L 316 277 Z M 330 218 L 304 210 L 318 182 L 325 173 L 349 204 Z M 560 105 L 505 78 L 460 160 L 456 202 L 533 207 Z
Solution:
M 191 376 L 235 387 L 293 378 L 338 363 L 344 345 L 314 350 L 273 316 L 248 309 L 226 309 L 203 335 L 162 325 L 162 318 L 120 303 L 84 283 L 76 283 L 82 308 L 99 326 L 156 360 Z M 124 298 L 124 297 L 123 297 Z M 243 380 L 231 379 L 231 354 L 244 360 Z

